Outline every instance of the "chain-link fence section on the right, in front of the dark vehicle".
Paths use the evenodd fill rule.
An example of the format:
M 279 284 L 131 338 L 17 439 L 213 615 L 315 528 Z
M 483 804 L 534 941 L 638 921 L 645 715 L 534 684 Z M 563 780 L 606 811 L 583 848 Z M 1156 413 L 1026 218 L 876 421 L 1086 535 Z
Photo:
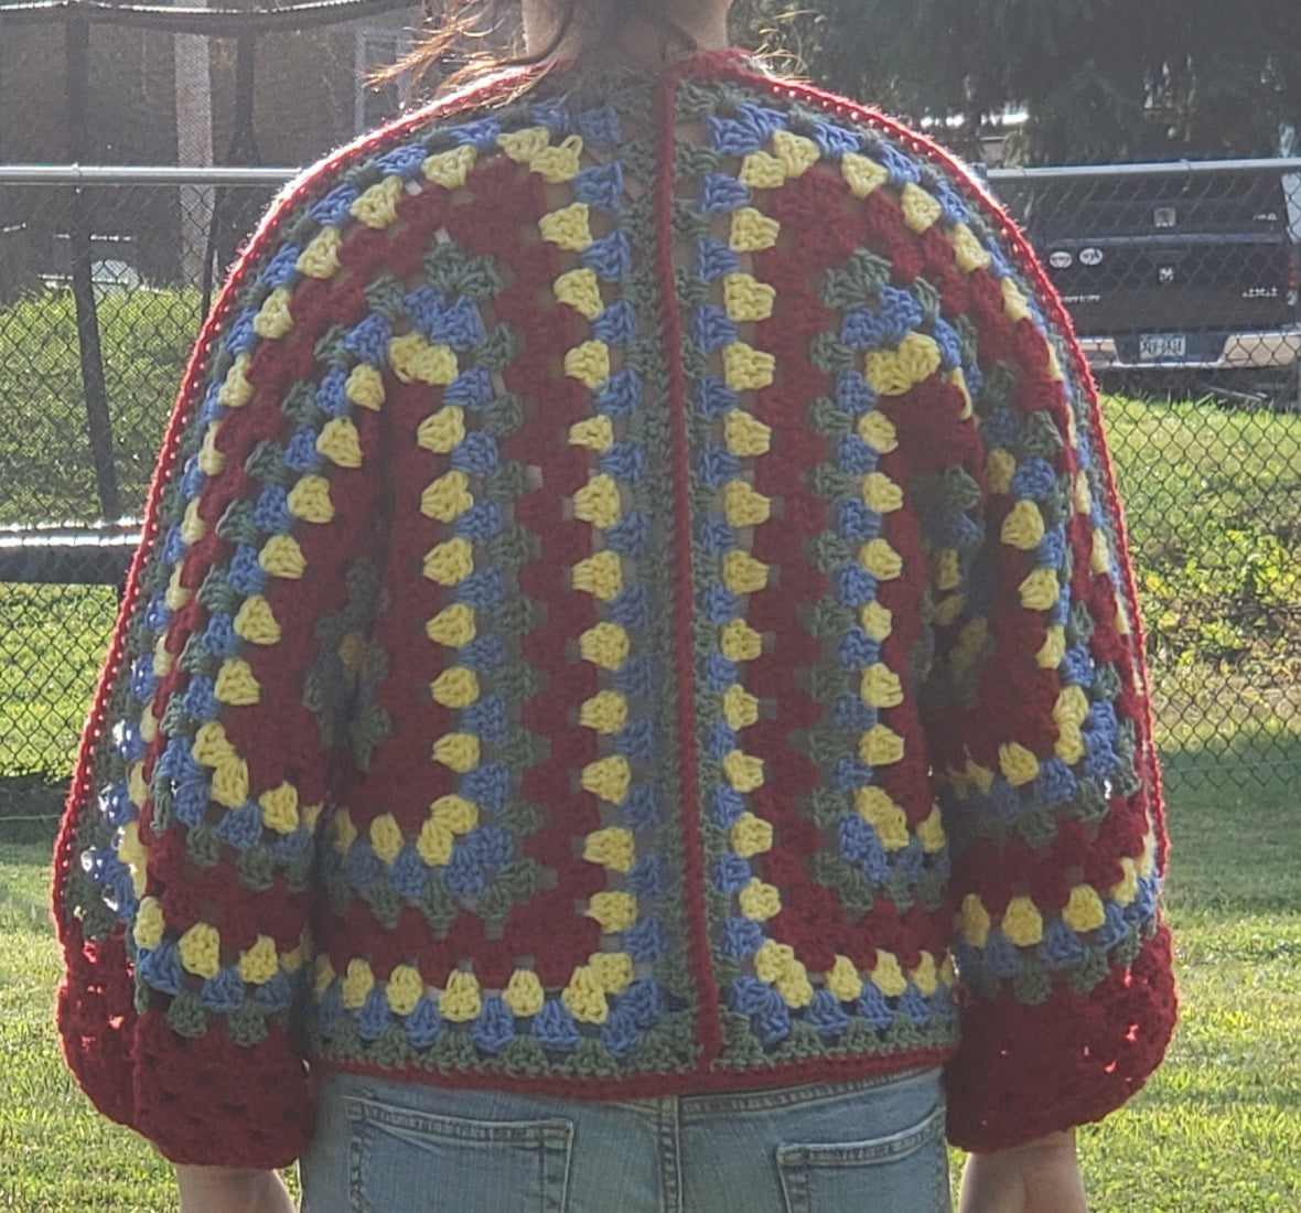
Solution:
M 1103 392 L 1171 795 L 1294 795 L 1301 159 L 993 177 Z

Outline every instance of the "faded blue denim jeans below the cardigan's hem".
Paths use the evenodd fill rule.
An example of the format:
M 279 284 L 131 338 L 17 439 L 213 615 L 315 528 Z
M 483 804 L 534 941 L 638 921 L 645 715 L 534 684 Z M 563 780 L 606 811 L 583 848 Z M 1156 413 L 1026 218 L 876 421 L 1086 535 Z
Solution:
M 939 1070 L 584 1102 L 321 1083 L 303 1213 L 948 1213 Z

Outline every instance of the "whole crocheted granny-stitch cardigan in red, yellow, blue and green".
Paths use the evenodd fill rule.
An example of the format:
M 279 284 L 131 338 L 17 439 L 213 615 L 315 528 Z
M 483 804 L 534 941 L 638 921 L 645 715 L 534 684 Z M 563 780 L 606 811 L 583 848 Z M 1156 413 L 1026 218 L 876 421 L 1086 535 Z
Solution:
M 1051 288 L 735 56 L 516 94 L 308 173 L 204 329 L 56 855 L 69 1063 L 239 1166 L 304 1058 L 1106 1114 L 1174 1022 L 1164 836 Z

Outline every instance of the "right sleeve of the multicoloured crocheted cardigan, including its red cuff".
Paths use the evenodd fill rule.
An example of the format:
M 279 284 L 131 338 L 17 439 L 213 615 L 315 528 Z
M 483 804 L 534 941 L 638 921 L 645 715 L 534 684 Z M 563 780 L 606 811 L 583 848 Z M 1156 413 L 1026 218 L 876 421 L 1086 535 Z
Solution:
M 1160 780 L 1098 401 L 1051 286 L 1003 234 L 1019 268 L 980 338 L 980 443 L 943 488 L 978 538 L 932 553 L 928 688 L 961 983 L 948 1134 L 977 1151 L 1119 1108 L 1175 1019 Z

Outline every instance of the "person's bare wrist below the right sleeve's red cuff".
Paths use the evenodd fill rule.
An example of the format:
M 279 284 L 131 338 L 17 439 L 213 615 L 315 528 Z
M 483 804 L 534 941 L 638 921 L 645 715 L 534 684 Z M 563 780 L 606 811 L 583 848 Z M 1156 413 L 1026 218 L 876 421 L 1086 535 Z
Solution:
M 971 1154 L 958 1213 L 1088 1213 L 1075 1130 Z

